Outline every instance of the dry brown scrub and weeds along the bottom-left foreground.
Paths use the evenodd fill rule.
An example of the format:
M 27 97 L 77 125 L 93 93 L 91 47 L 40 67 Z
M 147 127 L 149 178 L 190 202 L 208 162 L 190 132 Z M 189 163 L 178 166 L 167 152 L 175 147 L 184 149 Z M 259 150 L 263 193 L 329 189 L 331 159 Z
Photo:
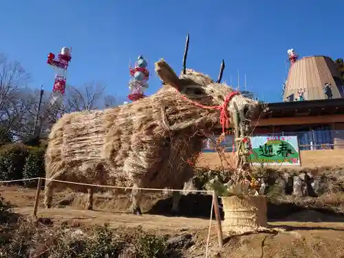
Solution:
M 70 228 L 55 226 L 51 219 L 25 217 L 17 224 L 0 225 L 0 255 L 3 258 L 103 258 L 181 257 L 160 237 L 134 228 L 133 232 L 114 231 L 105 226 Z M 125 256 L 123 256 L 125 254 Z

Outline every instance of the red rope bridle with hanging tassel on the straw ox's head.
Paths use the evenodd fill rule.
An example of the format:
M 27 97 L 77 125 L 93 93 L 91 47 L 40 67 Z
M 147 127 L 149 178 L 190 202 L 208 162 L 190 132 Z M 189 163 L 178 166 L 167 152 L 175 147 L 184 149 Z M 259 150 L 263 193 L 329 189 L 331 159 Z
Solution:
M 226 96 L 226 98 L 224 99 L 224 103 L 222 103 L 222 105 L 218 105 L 218 106 L 205 106 L 202 105 L 200 103 L 197 103 L 189 98 L 187 98 L 186 96 L 182 95 L 182 98 L 184 98 L 184 100 L 188 100 L 189 103 L 192 103 L 193 105 L 195 105 L 196 107 L 202 107 L 202 109 L 213 109 L 213 110 L 219 110 L 220 116 L 219 116 L 219 122 L 222 125 L 222 133 L 225 133 L 225 128 L 229 127 L 229 114 L 228 114 L 228 103 L 230 102 L 230 100 L 234 97 L 239 95 L 240 92 L 231 92 L 230 94 L 228 94 Z

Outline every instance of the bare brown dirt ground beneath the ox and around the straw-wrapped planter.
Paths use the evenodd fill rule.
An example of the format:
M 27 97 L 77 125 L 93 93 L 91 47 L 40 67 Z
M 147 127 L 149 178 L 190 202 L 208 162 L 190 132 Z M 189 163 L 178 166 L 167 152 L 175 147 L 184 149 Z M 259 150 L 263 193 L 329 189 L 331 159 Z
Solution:
M 32 214 L 35 193 L 35 189 L 22 189 L 14 186 L 0 187 L 0 194 L 14 204 L 14 211 L 24 215 Z M 73 195 L 74 200 L 70 200 L 68 195 L 72 194 L 56 193 L 54 195 L 56 207 L 45 209 L 42 202 L 43 193 L 41 193 L 38 216 L 50 217 L 54 224 L 67 222 L 73 227 L 81 224 L 91 225 L 107 222 L 112 228 L 120 228 L 120 230 L 130 230 L 130 228 L 142 226 L 158 234 L 180 235 L 187 232 L 193 235 L 194 244 L 184 251 L 185 257 L 201 258 L 205 255 L 209 219 L 147 213 L 142 216 L 129 215 L 125 213 L 129 205 L 126 196 L 116 198 L 118 201 L 112 202 L 112 208 L 106 202 L 109 198 L 103 197 L 102 202 L 102 198 L 98 196 L 95 211 L 85 211 L 83 210 L 84 197 Z M 156 195 L 146 197 L 145 210 L 149 209 L 149 205 L 156 204 L 153 197 Z M 61 206 L 61 203 L 68 205 Z M 114 208 L 115 204 L 117 204 L 116 208 Z M 295 222 L 305 221 L 308 218 L 318 222 Z M 344 218 L 335 218 L 316 211 L 298 211 L 280 220 L 279 222 L 270 222 L 270 225 L 284 228 L 284 232 L 241 236 L 224 233 L 224 248 L 221 250 L 217 246 L 216 222 L 213 220 L 208 257 L 344 257 Z

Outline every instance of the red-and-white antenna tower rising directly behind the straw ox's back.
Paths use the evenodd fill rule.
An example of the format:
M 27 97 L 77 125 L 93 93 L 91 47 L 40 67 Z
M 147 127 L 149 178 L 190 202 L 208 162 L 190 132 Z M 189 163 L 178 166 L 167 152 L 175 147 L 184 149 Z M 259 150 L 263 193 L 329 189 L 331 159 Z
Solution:
M 131 79 L 129 80 L 128 95 L 129 100 L 136 101 L 144 98 L 144 89 L 148 88 L 149 70 L 147 69 L 148 62 L 143 56 L 138 56 L 138 61 L 135 62 L 135 67 L 130 68 Z

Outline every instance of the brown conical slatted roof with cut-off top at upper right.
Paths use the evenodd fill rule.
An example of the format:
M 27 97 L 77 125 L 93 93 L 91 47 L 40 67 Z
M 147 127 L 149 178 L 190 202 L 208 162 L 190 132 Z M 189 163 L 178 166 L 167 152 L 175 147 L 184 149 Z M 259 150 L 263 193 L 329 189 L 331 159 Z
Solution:
M 343 98 L 343 81 L 338 68 L 327 56 L 306 56 L 290 67 L 283 100 L 294 94 L 298 98 L 298 89 L 304 90 L 305 100 L 325 99 L 325 83 L 332 85 L 333 98 Z M 342 94 L 342 95 L 341 95 Z

